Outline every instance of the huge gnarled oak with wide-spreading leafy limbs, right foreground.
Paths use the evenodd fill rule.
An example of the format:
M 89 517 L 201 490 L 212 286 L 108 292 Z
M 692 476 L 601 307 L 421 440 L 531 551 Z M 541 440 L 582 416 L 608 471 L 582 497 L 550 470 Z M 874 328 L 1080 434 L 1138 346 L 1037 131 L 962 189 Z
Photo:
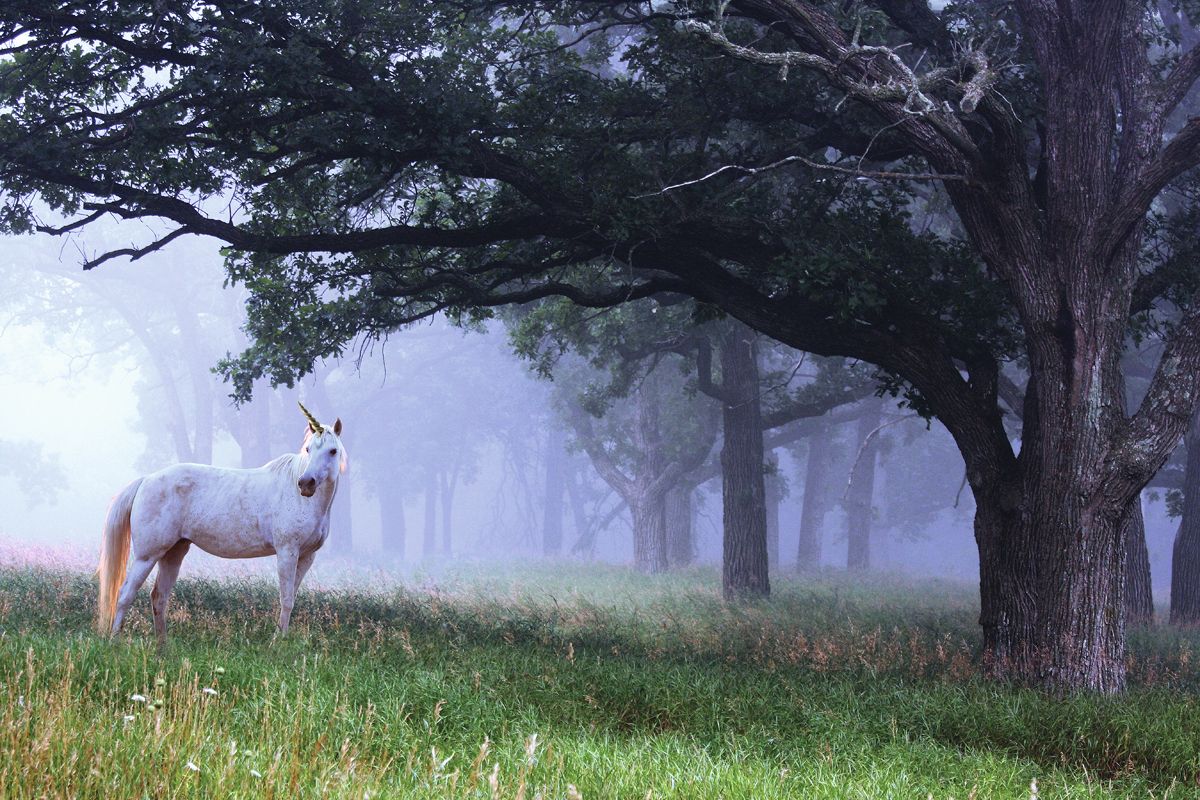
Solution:
M 965 458 L 989 663 L 1120 690 L 1122 531 L 1200 393 L 1190 295 L 1132 416 L 1118 368 L 1130 313 L 1178 284 L 1140 258 L 1200 163 L 1200 121 L 1171 116 L 1200 48 L 1133 1 L 719 7 L 13 0 L 4 219 L 40 196 L 72 225 L 175 224 L 118 251 L 248 253 L 242 390 L 434 308 L 550 295 L 686 294 L 878 365 Z M 875 182 L 898 175 L 941 182 L 982 266 L 912 235 Z M 208 213 L 229 187 L 246 215 Z

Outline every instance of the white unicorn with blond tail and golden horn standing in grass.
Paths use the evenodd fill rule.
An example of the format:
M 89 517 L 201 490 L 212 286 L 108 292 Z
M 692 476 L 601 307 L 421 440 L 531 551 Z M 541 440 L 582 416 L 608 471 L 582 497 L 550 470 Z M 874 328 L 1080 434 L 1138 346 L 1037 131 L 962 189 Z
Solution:
M 164 640 L 167 599 L 193 542 L 227 559 L 275 555 L 278 632 L 288 632 L 296 589 L 329 535 L 329 509 L 347 465 L 338 439 L 342 421 L 325 426 L 304 405 L 300 410 L 308 427 L 299 453 L 258 469 L 174 464 L 137 479 L 113 498 L 96 570 L 101 633 L 120 633 L 133 597 L 157 564 L 150 603 L 155 634 Z M 131 543 L 133 566 L 126 575 Z

